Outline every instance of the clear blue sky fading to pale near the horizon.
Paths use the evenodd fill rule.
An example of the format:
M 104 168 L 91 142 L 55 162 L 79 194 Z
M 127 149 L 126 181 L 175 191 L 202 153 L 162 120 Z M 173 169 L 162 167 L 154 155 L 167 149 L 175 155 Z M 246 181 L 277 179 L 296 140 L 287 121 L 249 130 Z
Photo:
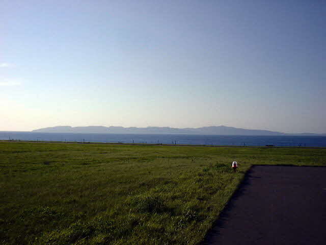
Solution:
M 325 1 L 0 0 L 0 131 L 326 133 Z

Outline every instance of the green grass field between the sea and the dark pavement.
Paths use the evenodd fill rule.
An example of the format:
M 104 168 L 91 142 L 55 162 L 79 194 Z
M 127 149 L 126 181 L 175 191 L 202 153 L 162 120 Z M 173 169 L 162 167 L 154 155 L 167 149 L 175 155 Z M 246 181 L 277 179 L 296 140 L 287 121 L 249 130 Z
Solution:
M 0 142 L 0 244 L 198 244 L 252 164 L 325 159 L 325 148 Z

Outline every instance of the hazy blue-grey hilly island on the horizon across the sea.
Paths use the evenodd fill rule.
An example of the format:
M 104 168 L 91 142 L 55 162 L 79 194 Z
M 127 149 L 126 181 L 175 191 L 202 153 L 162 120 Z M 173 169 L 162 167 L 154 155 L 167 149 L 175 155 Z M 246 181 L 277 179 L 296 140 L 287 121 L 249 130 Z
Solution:
M 36 129 L 32 132 L 43 133 L 101 133 L 101 134 L 194 134 L 194 135 L 318 135 L 311 133 L 302 134 L 286 134 L 282 132 L 274 132 L 268 130 L 251 130 L 240 129 L 226 126 L 211 126 L 202 128 L 170 128 L 170 127 L 104 127 L 104 126 L 88 126 L 88 127 L 71 127 L 57 126 L 43 129 Z

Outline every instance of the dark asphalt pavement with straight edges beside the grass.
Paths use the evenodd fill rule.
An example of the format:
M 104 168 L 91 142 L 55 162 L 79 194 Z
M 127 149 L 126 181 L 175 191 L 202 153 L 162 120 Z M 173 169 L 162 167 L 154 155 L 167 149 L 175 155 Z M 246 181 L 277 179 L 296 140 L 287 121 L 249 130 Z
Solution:
M 254 166 L 203 244 L 326 244 L 326 167 Z

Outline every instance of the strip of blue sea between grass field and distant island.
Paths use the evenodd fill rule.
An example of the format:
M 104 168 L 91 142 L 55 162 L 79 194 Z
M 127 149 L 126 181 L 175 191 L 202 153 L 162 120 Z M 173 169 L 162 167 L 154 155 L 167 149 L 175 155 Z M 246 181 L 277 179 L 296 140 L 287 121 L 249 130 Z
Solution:
M 249 146 L 317 146 L 326 147 L 326 136 L 240 136 L 180 134 L 84 134 L 0 131 L 0 140 L 40 140 L 78 142 L 121 142 L 163 144 L 209 144 Z

